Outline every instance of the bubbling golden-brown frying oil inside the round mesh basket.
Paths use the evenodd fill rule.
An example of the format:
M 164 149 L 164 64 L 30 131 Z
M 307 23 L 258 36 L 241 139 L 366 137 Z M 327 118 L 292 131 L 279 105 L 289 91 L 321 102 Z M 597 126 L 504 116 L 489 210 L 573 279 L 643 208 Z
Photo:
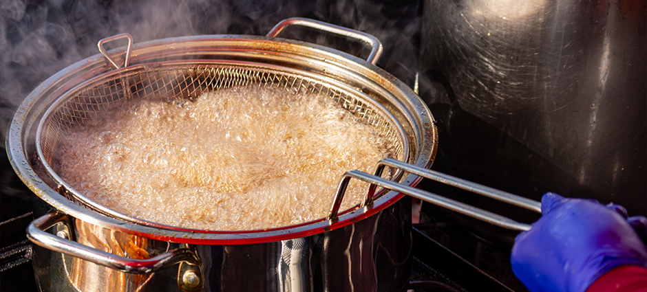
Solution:
M 61 148 L 61 177 L 106 207 L 206 230 L 282 227 L 330 212 L 341 175 L 392 146 L 325 96 L 251 85 L 112 111 Z M 352 181 L 342 210 L 368 185 Z

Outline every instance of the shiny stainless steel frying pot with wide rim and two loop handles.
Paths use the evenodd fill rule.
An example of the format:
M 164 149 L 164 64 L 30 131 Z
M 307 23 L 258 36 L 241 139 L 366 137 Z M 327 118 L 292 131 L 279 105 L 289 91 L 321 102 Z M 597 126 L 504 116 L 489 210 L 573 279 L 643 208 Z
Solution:
M 362 60 L 327 47 L 275 37 L 286 25 L 295 23 L 359 38 L 370 44 L 372 53 Z M 71 188 L 57 184 L 42 171 L 46 158 L 36 155 L 36 129 L 61 96 L 93 78 L 173 63 L 297 72 L 323 85 L 370 96 L 401 120 L 409 148 L 401 157 L 426 167 L 436 151 L 433 117 L 411 89 L 371 63 L 380 52 L 381 44 L 372 36 L 292 19 L 277 25 L 268 36 L 190 36 L 116 49 L 81 60 L 43 82 L 14 115 L 7 140 L 14 170 L 54 210 L 36 219 L 28 230 L 30 239 L 45 247 L 34 249 L 40 289 L 405 289 L 410 267 L 410 207 L 398 192 L 385 192 L 366 207 L 340 212 L 330 220 L 251 232 L 204 232 L 110 214 L 110 210 L 84 202 L 70 194 Z M 107 61 L 107 57 L 118 60 Z M 122 60 L 127 66 L 114 70 Z M 412 186 L 419 179 L 407 175 L 401 183 Z

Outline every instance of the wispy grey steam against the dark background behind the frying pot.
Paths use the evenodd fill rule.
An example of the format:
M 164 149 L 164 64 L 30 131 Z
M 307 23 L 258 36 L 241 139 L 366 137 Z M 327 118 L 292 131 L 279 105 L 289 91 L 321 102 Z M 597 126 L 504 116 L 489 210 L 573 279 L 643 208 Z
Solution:
M 377 0 L 3 0 L 2 139 L 14 111 L 30 91 L 68 65 L 98 54 L 100 38 L 122 32 L 132 34 L 136 43 L 195 34 L 264 35 L 282 19 L 308 17 L 373 34 L 385 48 L 379 67 L 413 86 L 419 5 L 418 1 Z M 315 41 L 328 45 L 329 39 L 318 36 Z M 330 46 L 357 53 L 352 45 Z

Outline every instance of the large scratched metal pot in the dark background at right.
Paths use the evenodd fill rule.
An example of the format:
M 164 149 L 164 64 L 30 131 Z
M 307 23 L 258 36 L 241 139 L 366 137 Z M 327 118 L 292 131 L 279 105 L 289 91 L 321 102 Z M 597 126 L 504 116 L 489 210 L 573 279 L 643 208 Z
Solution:
M 427 100 L 446 142 L 434 168 L 532 199 L 553 191 L 647 214 L 646 6 L 425 1 L 422 71 L 449 98 Z

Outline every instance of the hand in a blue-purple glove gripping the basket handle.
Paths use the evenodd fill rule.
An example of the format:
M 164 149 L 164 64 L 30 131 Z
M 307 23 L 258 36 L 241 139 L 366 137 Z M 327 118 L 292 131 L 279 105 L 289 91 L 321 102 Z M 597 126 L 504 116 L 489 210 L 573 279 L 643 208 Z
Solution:
M 647 221 L 632 217 L 630 225 L 622 210 L 544 194 L 542 218 L 515 240 L 513 272 L 532 292 L 584 292 L 614 267 L 646 267 L 647 249 L 633 225 L 644 232 Z

